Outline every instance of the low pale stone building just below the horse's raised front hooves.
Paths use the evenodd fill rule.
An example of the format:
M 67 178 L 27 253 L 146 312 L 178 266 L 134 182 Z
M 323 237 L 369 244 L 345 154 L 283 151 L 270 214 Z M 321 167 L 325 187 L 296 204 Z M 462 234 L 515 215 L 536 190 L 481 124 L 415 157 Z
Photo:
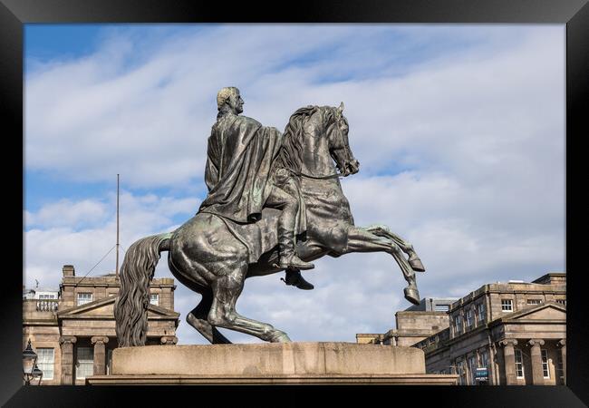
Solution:
M 456 300 L 458 299 L 454 297 L 423 298 L 420 305 L 413 305 L 395 313 L 396 329 L 391 329 L 384 334 L 360 333 L 356 335 L 356 342 L 377 345 L 414 345 L 449 327 L 449 307 Z

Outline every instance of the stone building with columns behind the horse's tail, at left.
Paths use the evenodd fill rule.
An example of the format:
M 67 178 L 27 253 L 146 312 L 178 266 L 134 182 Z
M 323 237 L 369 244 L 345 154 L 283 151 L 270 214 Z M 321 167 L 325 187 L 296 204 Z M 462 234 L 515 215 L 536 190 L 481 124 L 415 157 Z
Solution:
M 30 339 L 43 385 L 85 384 L 87 376 L 110 374 L 119 287 L 115 274 L 76 277 L 74 268 L 64 265 L 59 290 L 24 292 L 23 349 Z M 151 281 L 146 345 L 178 342 L 175 288 L 173 278 Z

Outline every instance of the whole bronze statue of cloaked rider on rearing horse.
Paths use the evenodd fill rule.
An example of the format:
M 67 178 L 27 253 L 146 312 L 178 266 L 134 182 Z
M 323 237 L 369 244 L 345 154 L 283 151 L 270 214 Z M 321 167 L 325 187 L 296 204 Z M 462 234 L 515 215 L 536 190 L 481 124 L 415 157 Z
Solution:
M 409 284 L 405 298 L 419 304 L 415 271 L 425 268 L 410 243 L 385 226 L 354 226 L 339 181 L 359 170 L 348 143 L 343 103 L 338 108 L 297 110 L 282 136 L 275 128 L 238 115 L 243 101 L 237 90 L 219 92 L 217 105 L 219 117 L 208 146 L 208 198 L 181 227 L 141 238 L 125 254 L 114 309 L 119 346 L 145 344 L 150 279 L 163 251 L 169 251 L 174 277 L 202 296 L 187 321 L 209 342 L 230 343 L 217 327 L 268 342 L 290 341 L 272 325 L 237 314 L 236 303 L 246 278 L 274 274 L 298 263 L 289 254 L 294 242 L 291 230 L 298 235 L 294 253 L 301 263 L 287 268 L 287 273 L 300 277 L 301 265 L 325 255 L 387 252 Z M 226 138 L 237 139 L 227 143 Z M 289 196 L 280 197 L 278 204 L 275 199 L 268 202 L 276 188 Z M 281 221 L 284 202 L 293 201 L 299 205 L 289 209 L 286 217 L 291 219 Z M 290 229 L 294 207 L 294 228 Z M 289 232 L 285 234 L 283 228 Z

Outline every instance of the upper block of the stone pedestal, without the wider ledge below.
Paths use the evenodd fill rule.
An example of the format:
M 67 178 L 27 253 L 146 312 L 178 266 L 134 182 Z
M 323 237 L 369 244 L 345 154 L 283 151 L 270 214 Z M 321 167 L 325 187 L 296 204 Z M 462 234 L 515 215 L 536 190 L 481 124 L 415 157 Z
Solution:
M 112 374 L 425 374 L 423 351 L 356 343 L 146 345 L 112 353 Z

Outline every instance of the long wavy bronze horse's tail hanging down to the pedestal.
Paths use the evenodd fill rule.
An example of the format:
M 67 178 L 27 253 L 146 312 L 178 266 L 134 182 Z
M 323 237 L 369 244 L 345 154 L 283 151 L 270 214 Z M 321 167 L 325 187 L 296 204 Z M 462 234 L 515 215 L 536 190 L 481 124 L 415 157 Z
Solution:
M 169 250 L 171 233 L 153 235 L 134 242 L 122 261 L 121 289 L 114 303 L 114 319 L 120 347 L 145 345 L 150 304 L 150 280 L 159 253 Z

